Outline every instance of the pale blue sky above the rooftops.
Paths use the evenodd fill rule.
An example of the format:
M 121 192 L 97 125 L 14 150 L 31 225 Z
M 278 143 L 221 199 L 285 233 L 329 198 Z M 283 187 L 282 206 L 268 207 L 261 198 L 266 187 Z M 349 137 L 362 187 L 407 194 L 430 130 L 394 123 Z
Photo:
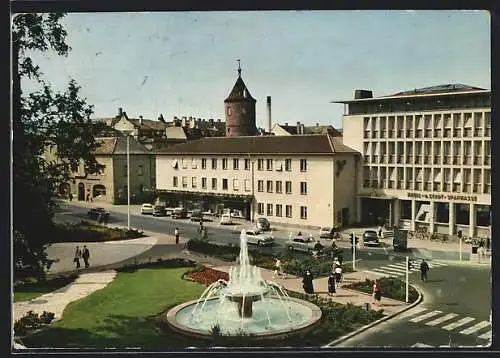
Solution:
M 73 13 L 67 57 L 36 54 L 44 78 L 70 78 L 95 117 L 220 118 L 242 78 L 257 126 L 342 127 L 354 90 L 383 96 L 446 83 L 491 88 L 486 11 L 254 11 Z M 29 88 L 27 86 L 26 88 Z

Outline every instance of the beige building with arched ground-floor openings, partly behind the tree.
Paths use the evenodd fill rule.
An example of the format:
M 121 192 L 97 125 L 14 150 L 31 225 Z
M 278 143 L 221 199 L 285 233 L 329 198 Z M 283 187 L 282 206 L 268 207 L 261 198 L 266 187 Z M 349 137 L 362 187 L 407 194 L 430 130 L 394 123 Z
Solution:
M 127 202 L 127 138 L 124 136 L 97 138 L 100 146 L 94 152 L 98 163 L 104 165 L 99 174 L 87 174 L 83 164 L 74 173 L 70 192 L 76 200 L 114 204 Z M 132 203 L 151 201 L 156 186 L 154 155 L 130 137 L 130 197 Z

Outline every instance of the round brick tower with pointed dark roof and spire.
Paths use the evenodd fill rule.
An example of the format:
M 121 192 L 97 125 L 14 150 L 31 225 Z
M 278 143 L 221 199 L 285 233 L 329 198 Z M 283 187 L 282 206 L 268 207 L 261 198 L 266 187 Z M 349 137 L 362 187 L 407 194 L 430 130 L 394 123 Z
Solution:
M 238 79 L 229 96 L 224 100 L 226 137 L 256 135 L 255 102 L 241 78 L 238 60 Z

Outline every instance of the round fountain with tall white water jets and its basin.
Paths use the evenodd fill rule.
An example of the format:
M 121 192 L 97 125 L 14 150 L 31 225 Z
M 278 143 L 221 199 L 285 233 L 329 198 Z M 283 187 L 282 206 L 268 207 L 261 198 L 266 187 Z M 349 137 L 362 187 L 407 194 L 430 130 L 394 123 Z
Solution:
M 212 283 L 198 300 L 167 313 L 172 329 L 201 338 L 209 338 L 215 325 L 225 335 L 243 332 L 260 339 L 278 338 L 303 331 L 320 318 L 316 305 L 288 296 L 281 285 L 264 280 L 260 268 L 250 264 L 245 230 L 229 280 Z

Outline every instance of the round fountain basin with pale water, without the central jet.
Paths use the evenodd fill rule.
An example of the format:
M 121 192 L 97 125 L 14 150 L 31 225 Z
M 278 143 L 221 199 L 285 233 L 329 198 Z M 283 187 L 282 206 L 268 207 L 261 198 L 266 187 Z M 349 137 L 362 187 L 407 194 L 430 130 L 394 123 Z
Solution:
M 278 339 L 304 332 L 321 318 L 318 306 L 304 300 L 289 297 L 285 305 L 290 317 L 277 296 L 267 296 L 253 302 L 251 317 L 240 317 L 238 307 L 232 300 L 220 297 L 206 301 L 206 309 L 192 315 L 197 300 L 182 303 L 168 311 L 168 325 L 183 335 L 210 339 L 210 330 L 220 322 L 221 334 L 230 335 L 242 329 L 250 339 Z M 219 316 L 217 317 L 217 312 Z M 268 315 L 269 313 L 269 315 Z M 291 319 L 291 321 L 290 321 Z M 269 325 L 269 320 L 271 325 Z

